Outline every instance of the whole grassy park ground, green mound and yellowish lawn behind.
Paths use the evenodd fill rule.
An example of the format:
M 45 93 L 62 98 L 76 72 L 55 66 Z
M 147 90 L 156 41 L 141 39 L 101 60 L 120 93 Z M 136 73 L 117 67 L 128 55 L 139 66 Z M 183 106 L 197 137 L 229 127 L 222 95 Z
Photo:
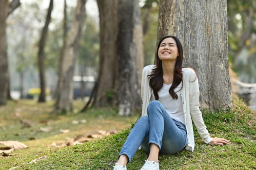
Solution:
M 212 136 L 225 137 L 231 140 L 230 145 L 210 146 L 204 144 L 195 130 L 196 146 L 194 152 L 181 151 L 174 155 L 159 156 L 161 170 L 253 170 L 256 169 L 256 113 L 248 109 L 242 102 L 234 99 L 234 109 L 218 113 L 209 113 L 203 111 L 204 121 Z M 86 114 L 70 114 L 67 116 L 51 115 L 47 104 L 41 104 L 38 107 L 30 103 L 18 104 L 24 110 L 34 108 L 33 121 L 38 119 L 50 119 L 51 125 L 56 125 L 56 129 L 66 128 L 72 129 L 72 135 L 81 130 L 80 133 L 86 133 L 87 125 L 67 125 L 72 119 L 87 119 L 93 122 L 92 127 L 101 126 L 104 123 L 114 127 L 114 121 L 125 124 L 121 132 L 115 135 L 107 136 L 102 139 L 93 140 L 82 145 L 65 147 L 62 149 L 49 148 L 49 143 L 53 140 L 64 139 L 65 136 L 59 134 L 59 131 L 51 132 L 52 134 L 43 135 L 33 132 L 33 130 L 17 129 L 16 117 L 6 118 L 7 115 L 13 116 L 16 104 L 8 104 L 7 107 L 0 108 L 0 126 L 4 129 L 4 133 L 0 131 L 0 137 L 6 139 L 20 139 L 30 148 L 21 150 L 17 155 L 9 157 L 0 157 L 0 167 L 8 170 L 11 167 L 19 166 L 17 170 L 112 170 L 117 160 L 118 153 L 123 145 L 127 135 L 130 132 L 131 122 L 134 123 L 137 116 L 129 118 L 120 118 L 115 110 L 90 110 Z M 33 109 L 32 109 L 33 110 Z M 16 110 L 17 111 L 17 110 Z M 24 112 L 28 113 L 30 111 Z M 3 114 L 4 113 L 4 114 Z M 9 113 L 9 114 L 8 114 Z M 23 112 L 22 112 L 23 113 Z M 21 113 L 20 113 L 21 114 Z M 23 114 L 22 114 L 23 115 Z M 25 114 L 24 114 L 25 115 Z M 29 115 L 29 114 L 28 114 Z M 60 118 L 59 118 L 60 117 Z M 28 118 L 30 118 L 28 116 Z M 102 118 L 102 119 L 98 119 Z M 4 121 L 2 121 L 4 119 Z M 16 120 L 15 120 L 16 119 Z M 90 120 L 90 121 L 89 121 Z M 111 121 L 111 122 L 110 122 Z M 12 122 L 7 125 L 4 122 Z M 16 124 L 13 124 L 16 123 Z M 34 125 L 39 126 L 39 125 Z M 33 126 L 33 128 L 34 128 Z M 72 127 L 71 127 L 72 126 Z M 88 123 L 89 126 L 89 123 Z M 16 128 L 15 128 L 16 127 Z M 14 130 L 16 129 L 16 130 Z M 107 129 L 108 130 L 108 129 Z M 17 132 L 16 132 L 17 131 Z M 24 132 L 23 132 L 24 131 Z M 11 132 L 9 134 L 9 132 Z M 29 134 L 36 136 L 36 140 L 28 141 Z M 13 135 L 11 135 L 13 134 Z M 17 135 L 19 134 L 19 135 Z M 70 136 L 71 134 L 69 134 Z M 12 136 L 12 137 L 11 137 Z M 26 137 L 23 137 L 26 136 Z M 48 142 L 48 143 L 47 143 Z M 41 144 L 43 143 L 43 144 Z M 33 164 L 22 164 L 30 162 L 33 159 L 42 157 L 43 159 Z M 128 170 L 138 170 L 144 164 L 147 153 L 139 150 L 131 163 L 128 164 Z

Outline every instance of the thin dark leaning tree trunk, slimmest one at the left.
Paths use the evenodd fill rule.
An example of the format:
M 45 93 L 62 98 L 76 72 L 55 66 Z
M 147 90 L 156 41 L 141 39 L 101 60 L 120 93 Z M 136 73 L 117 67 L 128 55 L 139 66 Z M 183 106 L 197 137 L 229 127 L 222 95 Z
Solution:
M 46 21 L 42 29 L 42 34 L 39 41 L 39 51 L 38 51 L 38 67 L 39 67 L 39 80 L 40 80 L 40 95 L 38 102 L 46 101 L 46 82 L 45 82 L 45 66 L 44 66 L 44 46 L 47 38 L 48 26 L 51 20 L 51 13 L 53 9 L 53 0 L 50 0 Z

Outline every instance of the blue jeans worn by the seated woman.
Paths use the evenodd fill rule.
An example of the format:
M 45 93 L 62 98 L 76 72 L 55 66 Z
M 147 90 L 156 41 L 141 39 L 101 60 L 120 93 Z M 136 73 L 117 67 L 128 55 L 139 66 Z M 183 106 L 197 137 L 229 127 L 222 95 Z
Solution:
M 149 144 L 154 143 L 159 153 L 174 154 L 187 144 L 185 125 L 172 119 L 160 102 L 150 102 L 147 113 L 148 117 L 138 119 L 119 153 L 127 155 L 129 162 L 139 146 L 149 152 Z

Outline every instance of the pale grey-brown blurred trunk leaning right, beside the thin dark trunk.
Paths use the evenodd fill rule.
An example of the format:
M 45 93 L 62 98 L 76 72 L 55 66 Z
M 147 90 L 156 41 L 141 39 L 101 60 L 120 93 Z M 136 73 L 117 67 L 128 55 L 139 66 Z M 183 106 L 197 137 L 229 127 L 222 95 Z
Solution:
M 85 19 L 85 1 L 78 0 L 77 2 L 75 20 L 67 39 L 67 45 L 63 51 L 62 62 L 59 63 L 61 70 L 59 73 L 59 86 L 57 88 L 57 102 L 55 104 L 57 111 L 72 110 L 75 51 L 78 48 L 80 32 Z

